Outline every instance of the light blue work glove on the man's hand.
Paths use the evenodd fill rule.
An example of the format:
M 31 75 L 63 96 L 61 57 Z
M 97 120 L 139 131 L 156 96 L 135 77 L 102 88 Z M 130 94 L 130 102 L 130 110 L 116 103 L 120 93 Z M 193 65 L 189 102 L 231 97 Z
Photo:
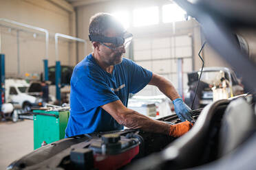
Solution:
M 174 105 L 174 110 L 178 117 L 180 118 L 181 121 L 192 121 L 193 119 L 191 118 L 191 108 L 187 106 L 181 98 L 173 100 L 173 105 Z

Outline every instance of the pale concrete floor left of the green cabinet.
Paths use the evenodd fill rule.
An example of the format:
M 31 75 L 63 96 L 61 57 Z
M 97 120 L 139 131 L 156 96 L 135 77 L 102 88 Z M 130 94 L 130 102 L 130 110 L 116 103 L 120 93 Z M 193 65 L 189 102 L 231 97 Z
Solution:
M 33 121 L 0 122 L 0 169 L 34 149 Z

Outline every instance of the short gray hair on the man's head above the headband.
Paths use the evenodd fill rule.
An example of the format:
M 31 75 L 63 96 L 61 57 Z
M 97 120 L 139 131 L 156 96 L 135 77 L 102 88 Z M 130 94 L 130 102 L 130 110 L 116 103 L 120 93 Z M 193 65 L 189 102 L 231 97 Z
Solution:
M 89 34 L 94 36 L 105 36 L 107 29 L 114 29 L 116 32 L 124 32 L 125 28 L 114 16 L 108 13 L 97 13 L 89 21 Z

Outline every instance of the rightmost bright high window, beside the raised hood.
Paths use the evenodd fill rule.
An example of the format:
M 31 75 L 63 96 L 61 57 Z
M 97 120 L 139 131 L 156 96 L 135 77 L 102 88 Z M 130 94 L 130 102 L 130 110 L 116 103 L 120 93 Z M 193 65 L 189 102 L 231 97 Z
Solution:
M 171 23 L 176 21 L 185 21 L 186 12 L 177 4 L 171 3 L 162 6 L 162 22 Z

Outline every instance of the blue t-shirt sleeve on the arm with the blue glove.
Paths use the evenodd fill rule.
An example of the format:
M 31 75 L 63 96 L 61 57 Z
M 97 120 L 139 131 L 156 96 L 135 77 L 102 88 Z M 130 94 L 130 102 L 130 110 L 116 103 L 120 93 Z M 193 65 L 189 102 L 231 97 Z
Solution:
M 147 69 L 144 69 L 142 66 L 139 66 L 133 61 L 130 62 L 130 69 L 129 73 L 131 76 L 131 80 L 129 82 L 130 88 L 129 93 L 138 93 L 142 88 L 147 86 L 149 84 L 152 72 L 148 71 Z

